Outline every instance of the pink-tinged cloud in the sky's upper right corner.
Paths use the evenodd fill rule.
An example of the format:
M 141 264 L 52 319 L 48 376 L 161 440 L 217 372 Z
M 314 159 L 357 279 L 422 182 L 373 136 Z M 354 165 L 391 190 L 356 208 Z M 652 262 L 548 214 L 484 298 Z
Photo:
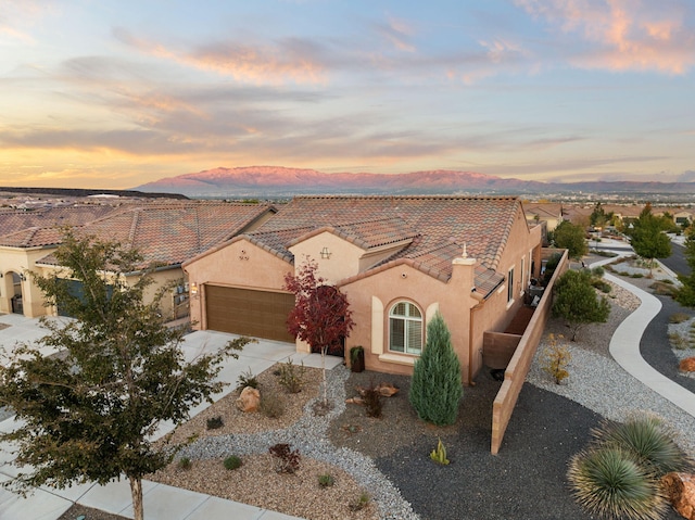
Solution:
M 590 48 L 569 60 L 585 68 L 683 74 L 695 65 L 695 34 L 681 0 L 515 0 L 528 13 L 579 34 Z

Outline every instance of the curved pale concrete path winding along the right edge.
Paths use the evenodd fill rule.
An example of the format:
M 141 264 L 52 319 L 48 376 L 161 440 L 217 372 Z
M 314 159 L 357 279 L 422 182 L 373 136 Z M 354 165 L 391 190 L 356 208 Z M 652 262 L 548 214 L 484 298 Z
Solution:
M 592 265 L 599 265 L 596 263 Z M 667 398 L 686 414 L 695 417 L 695 394 L 664 376 L 644 360 L 640 341 L 649 321 L 659 314 L 661 302 L 646 291 L 620 278 L 605 274 L 607 280 L 632 292 L 642 302 L 640 307 L 618 326 L 610 339 L 609 352 L 614 359 L 632 377 Z

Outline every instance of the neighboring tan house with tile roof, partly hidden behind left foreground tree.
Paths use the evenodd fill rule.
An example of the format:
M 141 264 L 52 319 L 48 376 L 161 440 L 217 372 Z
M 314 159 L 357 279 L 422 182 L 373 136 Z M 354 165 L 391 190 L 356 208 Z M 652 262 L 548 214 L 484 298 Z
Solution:
M 155 264 L 155 283 L 150 286 L 146 297 L 152 297 L 164 284 L 180 280 L 175 292 L 161 305 L 165 316 L 176 318 L 188 314 L 181 263 L 235 234 L 253 231 L 275 213 L 275 207 L 267 204 L 148 203 L 125 205 L 102 218 L 74 226 L 74 229 L 78 234 L 118 241 L 137 249 L 144 258 L 142 268 Z M 52 254 L 60 245 L 61 236 L 60 228 L 53 224 L 0 237 L 1 313 L 20 313 L 28 317 L 61 314 L 60 308 L 46 307 L 43 294 L 29 274 L 65 276 Z M 129 276 L 140 274 L 141 270 Z M 79 282 L 72 280 L 68 283 L 79 293 Z

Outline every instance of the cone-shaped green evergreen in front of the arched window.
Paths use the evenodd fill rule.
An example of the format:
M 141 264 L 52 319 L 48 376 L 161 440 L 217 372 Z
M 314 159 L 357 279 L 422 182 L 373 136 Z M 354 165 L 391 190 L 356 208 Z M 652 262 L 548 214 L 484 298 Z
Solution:
M 408 398 L 417 416 L 438 426 L 453 424 L 464 395 L 460 363 L 442 315 L 427 326 L 427 343 L 415 362 Z

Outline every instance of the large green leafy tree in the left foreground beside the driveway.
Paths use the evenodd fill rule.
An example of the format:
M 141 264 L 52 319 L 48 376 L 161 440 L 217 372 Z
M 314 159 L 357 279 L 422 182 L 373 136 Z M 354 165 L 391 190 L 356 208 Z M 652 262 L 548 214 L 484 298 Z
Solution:
M 0 441 L 16 445 L 17 467 L 31 467 L 11 483 L 26 493 L 43 484 L 105 484 L 125 474 L 135 518 L 142 520 L 142 477 L 172 458 L 151 436 L 162 421 L 182 422 L 191 407 L 211 401 L 225 384 L 214 381 L 220 363 L 250 340 L 186 363 L 184 330 L 164 325 L 157 299 L 143 303 L 149 274 L 125 283 L 123 274 L 141 269 L 135 251 L 65 231 L 54 255 L 84 294 L 71 292 L 64 279 L 33 274 L 48 303 L 76 320 L 43 321 L 50 333 L 39 345 L 61 355 L 43 357 L 38 346 L 21 345 L 0 368 L 0 404 L 21 424 Z

